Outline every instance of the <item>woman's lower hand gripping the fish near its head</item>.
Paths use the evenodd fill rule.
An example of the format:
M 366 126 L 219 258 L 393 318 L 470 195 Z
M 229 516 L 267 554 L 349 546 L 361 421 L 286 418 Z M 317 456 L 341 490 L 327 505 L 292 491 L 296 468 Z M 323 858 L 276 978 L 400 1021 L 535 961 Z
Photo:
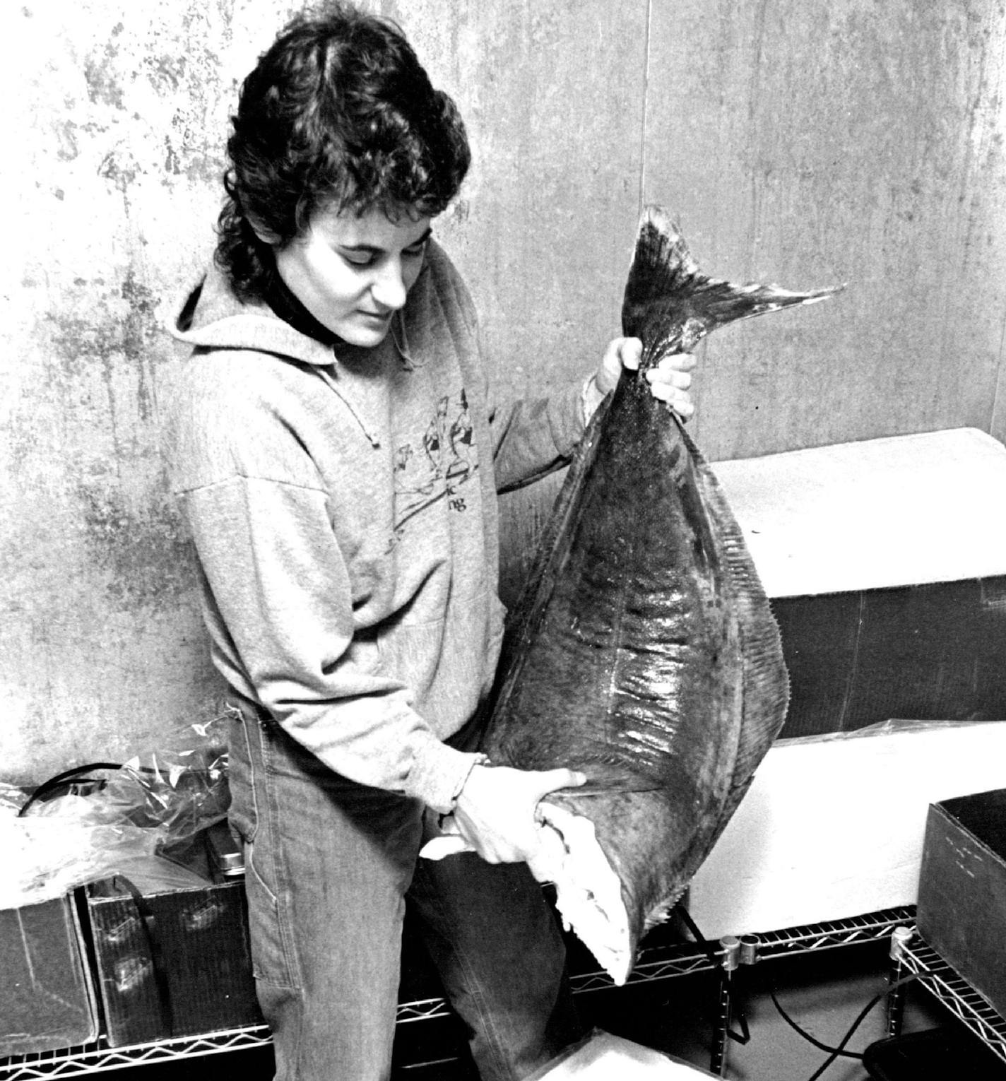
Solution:
M 454 810 L 452 829 L 491 864 L 534 859 L 540 846 L 536 813 L 542 796 L 577 788 L 587 778 L 573 770 L 472 766 Z

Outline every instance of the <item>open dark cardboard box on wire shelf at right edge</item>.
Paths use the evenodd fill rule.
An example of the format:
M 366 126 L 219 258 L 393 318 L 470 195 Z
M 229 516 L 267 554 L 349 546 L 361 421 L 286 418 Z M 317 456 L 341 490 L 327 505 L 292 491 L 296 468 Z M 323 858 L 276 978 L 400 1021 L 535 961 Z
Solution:
M 1006 1015 L 1006 788 L 929 808 L 917 921 L 936 952 Z

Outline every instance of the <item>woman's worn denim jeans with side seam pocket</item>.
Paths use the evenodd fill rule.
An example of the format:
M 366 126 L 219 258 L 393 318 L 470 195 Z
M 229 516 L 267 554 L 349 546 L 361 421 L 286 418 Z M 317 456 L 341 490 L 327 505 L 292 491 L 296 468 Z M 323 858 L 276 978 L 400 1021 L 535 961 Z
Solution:
M 278 1081 L 388 1078 L 406 900 L 483 1081 L 518 1081 L 581 1038 L 562 936 L 524 864 L 418 859 L 418 801 L 333 773 L 240 710 L 230 822 Z

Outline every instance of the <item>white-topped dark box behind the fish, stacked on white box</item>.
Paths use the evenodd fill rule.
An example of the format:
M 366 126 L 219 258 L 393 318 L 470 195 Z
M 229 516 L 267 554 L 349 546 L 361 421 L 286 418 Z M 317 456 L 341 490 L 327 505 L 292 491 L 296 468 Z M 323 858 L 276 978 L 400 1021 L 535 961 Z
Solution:
M 1006 719 L 1006 448 L 974 428 L 713 465 L 782 633 L 783 737 Z

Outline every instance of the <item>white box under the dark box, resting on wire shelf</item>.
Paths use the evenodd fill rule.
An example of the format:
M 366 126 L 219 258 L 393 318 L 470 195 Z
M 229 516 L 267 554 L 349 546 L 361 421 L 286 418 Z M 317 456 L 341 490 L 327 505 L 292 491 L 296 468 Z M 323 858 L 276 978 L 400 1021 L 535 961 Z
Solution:
M 693 879 L 688 911 L 715 939 L 912 905 L 928 805 L 1002 787 L 1006 721 L 782 740 Z

